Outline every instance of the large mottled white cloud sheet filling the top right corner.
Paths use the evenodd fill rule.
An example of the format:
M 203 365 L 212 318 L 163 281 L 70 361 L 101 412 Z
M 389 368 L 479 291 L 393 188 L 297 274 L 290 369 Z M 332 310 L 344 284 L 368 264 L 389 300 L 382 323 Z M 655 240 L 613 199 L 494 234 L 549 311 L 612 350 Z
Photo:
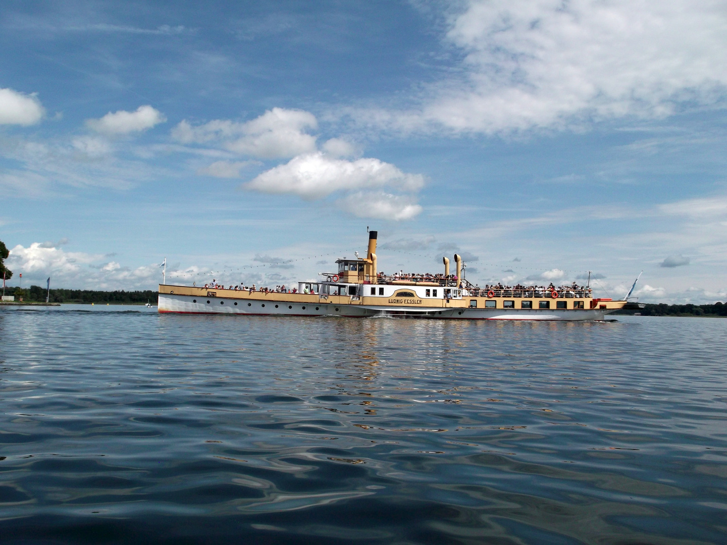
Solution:
M 457 75 L 364 124 L 498 134 L 660 118 L 723 100 L 727 11 L 710 0 L 469 0 L 449 19 Z

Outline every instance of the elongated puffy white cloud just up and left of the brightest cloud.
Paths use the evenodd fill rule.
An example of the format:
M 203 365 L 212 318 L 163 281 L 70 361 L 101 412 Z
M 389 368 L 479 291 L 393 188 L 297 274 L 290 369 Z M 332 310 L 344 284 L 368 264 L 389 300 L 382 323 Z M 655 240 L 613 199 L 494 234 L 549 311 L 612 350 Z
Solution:
M 183 144 L 217 142 L 226 150 L 257 158 L 290 158 L 316 150 L 316 137 L 306 131 L 317 127 L 310 112 L 273 108 L 245 123 L 215 119 L 193 126 L 185 120 L 172 129 L 172 138 Z

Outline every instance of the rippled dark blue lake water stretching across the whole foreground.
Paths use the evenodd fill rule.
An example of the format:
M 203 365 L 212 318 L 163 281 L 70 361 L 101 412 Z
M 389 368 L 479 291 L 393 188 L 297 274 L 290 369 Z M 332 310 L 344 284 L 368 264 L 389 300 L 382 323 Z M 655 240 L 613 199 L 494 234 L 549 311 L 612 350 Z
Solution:
M 727 320 L 0 310 L 4 544 L 723 544 Z

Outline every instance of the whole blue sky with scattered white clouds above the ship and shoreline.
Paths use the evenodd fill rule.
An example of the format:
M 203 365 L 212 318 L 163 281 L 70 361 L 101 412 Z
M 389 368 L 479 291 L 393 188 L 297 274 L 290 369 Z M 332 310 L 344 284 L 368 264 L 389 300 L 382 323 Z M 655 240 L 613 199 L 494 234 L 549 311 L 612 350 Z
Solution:
M 4 1 L 23 283 L 274 286 L 364 251 L 727 299 L 727 4 Z

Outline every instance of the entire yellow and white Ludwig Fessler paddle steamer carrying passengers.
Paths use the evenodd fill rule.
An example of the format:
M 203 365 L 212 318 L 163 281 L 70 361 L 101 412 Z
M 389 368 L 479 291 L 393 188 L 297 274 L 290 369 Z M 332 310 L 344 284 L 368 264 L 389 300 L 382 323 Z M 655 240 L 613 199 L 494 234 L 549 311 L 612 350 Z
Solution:
M 454 254 L 450 274 L 385 275 L 377 271 L 376 231 L 369 232 L 366 258 L 342 258 L 337 272 L 320 273 L 317 282 L 297 288 L 234 289 L 159 285 L 158 312 L 177 314 L 235 314 L 342 316 L 366 318 L 445 318 L 459 320 L 603 320 L 622 309 L 627 300 L 594 298 L 590 287 L 479 288 L 462 278 L 462 257 Z M 638 279 L 637 279 L 638 280 Z M 632 288 L 633 290 L 633 288 Z M 150 306 L 147 304 L 147 306 Z

